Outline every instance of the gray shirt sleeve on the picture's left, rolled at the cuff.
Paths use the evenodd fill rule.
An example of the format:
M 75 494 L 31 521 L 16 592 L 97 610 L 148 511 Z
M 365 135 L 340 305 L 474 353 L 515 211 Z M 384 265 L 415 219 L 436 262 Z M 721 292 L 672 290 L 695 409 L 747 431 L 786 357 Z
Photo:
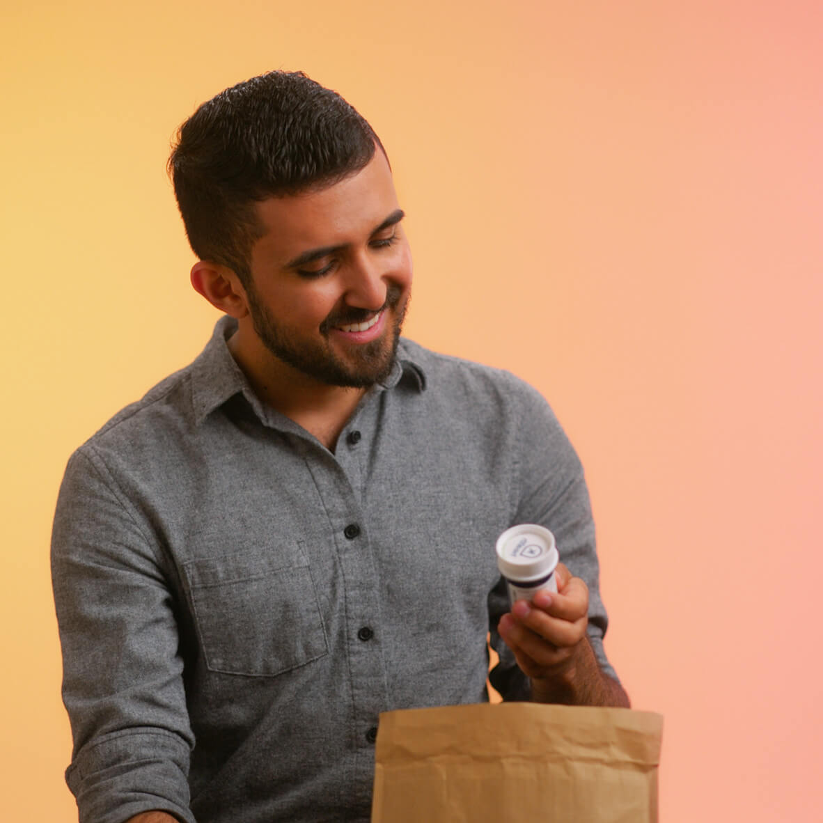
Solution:
M 52 534 L 66 781 L 81 823 L 188 808 L 193 735 L 174 597 L 157 541 L 90 445 L 69 461 Z

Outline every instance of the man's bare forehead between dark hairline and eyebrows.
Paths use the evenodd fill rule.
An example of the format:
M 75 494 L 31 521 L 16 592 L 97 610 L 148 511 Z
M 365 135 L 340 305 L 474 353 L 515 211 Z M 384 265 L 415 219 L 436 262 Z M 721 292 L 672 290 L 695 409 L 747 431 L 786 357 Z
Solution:
M 355 243 L 367 238 L 396 208 L 392 173 L 377 148 L 368 165 L 339 183 L 258 202 L 265 233 L 254 244 L 253 254 L 287 259 L 307 249 Z

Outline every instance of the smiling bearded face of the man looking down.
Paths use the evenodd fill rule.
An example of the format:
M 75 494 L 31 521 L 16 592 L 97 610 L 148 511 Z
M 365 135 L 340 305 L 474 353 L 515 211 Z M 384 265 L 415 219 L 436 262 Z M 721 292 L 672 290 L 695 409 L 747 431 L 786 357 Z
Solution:
M 323 384 L 388 377 L 412 286 L 412 255 L 379 148 L 340 183 L 258 203 L 246 290 L 269 354 Z

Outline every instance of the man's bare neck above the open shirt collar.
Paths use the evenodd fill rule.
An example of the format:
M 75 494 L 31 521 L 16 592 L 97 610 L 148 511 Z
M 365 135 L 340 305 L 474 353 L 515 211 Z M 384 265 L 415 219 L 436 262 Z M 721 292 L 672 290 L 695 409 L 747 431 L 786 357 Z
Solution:
M 258 398 L 333 452 L 366 389 L 322 383 L 273 356 L 256 337 L 245 339 L 240 330 L 228 346 Z

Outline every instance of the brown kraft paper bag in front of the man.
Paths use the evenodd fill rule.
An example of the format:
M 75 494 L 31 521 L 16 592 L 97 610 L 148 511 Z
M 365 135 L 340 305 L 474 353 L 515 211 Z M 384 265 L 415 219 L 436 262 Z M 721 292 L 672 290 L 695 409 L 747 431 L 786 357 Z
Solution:
M 656 823 L 663 717 L 532 703 L 380 715 L 372 823 Z

